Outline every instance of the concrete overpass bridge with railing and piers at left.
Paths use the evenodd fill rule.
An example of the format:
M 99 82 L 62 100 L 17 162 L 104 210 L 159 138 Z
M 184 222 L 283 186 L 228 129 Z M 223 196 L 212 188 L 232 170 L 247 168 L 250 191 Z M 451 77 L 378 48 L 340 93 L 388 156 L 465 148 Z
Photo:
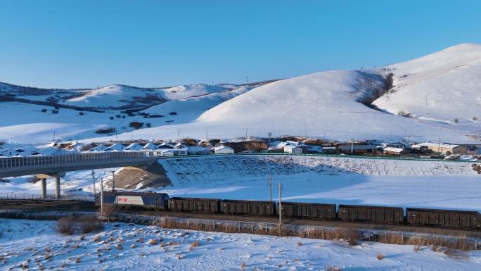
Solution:
M 127 166 L 146 169 L 158 158 L 143 151 L 0 158 L 0 178 L 36 175 L 41 180 L 41 196 L 44 198 L 46 197 L 46 178 L 55 177 L 56 197 L 60 198 L 60 178 L 65 175 L 65 172 Z

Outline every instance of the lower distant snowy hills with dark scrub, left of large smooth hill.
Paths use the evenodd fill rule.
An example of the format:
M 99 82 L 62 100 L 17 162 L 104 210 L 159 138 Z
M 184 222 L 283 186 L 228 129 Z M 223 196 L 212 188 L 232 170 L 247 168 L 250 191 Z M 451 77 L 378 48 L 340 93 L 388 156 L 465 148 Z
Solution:
M 51 141 L 54 134 L 56 140 L 64 141 L 98 137 L 101 134 L 95 132 L 101 128 L 115 128 L 116 132 L 110 133 L 115 136 L 115 133 L 131 132 L 133 129 L 129 127 L 130 122 L 143 122 L 153 127 L 191 122 L 217 104 L 252 89 L 252 87 L 231 89 L 232 87 L 236 86 L 197 84 L 147 91 L 116 85 L 103 87 L 98 92 L 95 90 L 85 91 L 88 93 L 63 103 L 94 108 L 123 107 L 129 104 L 132 106 L 136 99 L 145 101 L 145 99 L 139 98 L 143 92 L 156 93 L 161 97 L 160 99 L 163 99 L 162 101 L 165 101 L 149 100 L 149 102 L 159 104 L 130 115 L 122 113 L 120 110 L 103 109 L 105 112 L 98 113 L 75 111 L 69 108 L 55 109 L 51 106 L 17 101 L 1 102 L 0 141 L 41 144 Z M 28 97 L 39 101 L 49 95 L 20 96 L 24 99 Z M 137 106 L 139 105 L 146 106 L 145 103 L 137 104 Z M 56 113 L 53 113 L 54 111 Z

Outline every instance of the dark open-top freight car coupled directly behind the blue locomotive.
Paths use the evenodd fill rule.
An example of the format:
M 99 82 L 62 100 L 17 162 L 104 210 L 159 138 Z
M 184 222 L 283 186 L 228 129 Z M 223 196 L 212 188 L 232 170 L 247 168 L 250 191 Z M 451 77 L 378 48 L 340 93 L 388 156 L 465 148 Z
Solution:
M 169 198 L 169 210 L 177 212 L 219 213 L 220 198 Z

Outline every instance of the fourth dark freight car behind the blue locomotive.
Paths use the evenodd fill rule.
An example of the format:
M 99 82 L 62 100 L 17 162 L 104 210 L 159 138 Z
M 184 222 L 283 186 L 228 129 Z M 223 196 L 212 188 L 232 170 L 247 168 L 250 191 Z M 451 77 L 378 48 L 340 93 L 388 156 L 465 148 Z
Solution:
M 338 217 L 340 220 L 397 224 L 404 222 L 404 210 L 402 207 L 340 205 Z

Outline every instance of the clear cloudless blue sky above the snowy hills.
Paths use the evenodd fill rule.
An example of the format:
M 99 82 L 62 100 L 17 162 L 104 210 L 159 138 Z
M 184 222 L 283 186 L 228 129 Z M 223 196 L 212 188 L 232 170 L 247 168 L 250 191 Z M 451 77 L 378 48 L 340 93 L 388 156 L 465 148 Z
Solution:
M 481 1 L 0 0 L 0 81 L 245 82 L 481 43 Z

